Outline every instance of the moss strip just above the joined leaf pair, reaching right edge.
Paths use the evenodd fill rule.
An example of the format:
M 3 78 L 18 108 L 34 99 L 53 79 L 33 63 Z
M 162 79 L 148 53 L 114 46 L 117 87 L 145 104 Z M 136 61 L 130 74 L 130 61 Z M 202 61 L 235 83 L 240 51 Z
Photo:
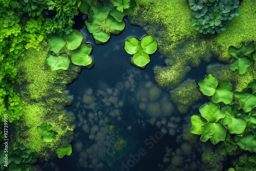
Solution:
M 256 78 L 256 63 L 248 67 L 248 71 L 240 75 L 238 71 L 231 71 L 228 65 L 216 64 L 207 68 L 207 74 L 216 76 L 219 81 L 229 80 L 234 91 L 242 91 L 247 84 Z

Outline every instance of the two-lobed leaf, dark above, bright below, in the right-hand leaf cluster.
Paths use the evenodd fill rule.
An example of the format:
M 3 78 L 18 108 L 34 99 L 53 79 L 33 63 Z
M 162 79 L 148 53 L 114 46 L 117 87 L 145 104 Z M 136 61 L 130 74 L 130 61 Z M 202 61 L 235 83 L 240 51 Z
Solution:
M 227 125 L 228 132 L 230 134 L 242 134 L 246 127 L 246 120 L 239 117 L 244 115 L 243 110 L 240 110 L 240 105 L 223 105 L 221 109 L 225 113 L 222 124 Z

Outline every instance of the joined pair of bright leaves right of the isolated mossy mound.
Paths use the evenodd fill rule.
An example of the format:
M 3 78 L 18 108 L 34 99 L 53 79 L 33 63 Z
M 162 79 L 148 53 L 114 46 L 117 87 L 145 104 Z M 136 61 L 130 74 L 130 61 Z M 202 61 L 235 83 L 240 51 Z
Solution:
M 229 104 L 233 99 L 232 85 L 227 80 L 221 81 L 218 85 L 218 79 L 209 74 L 203 81 L 199 81 L 198 85 L 204 95 L 213 95 L 212 101 L 215 103 L 222 101 Z

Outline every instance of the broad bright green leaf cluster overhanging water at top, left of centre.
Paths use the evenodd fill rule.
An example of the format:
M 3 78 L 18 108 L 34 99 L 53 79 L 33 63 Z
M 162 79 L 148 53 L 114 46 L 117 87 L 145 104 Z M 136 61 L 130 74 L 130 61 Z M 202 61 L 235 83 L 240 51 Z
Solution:
M 82 2 L 79 10 L 89 14 L 89 19 L 85 21 L 87 29 L 95 40 L 102 43 L 110 39 L 111 33 L 118 34 L 124 29 L 123 17 L 131 14 L 135 6 L 134 0 L 104 1 L 100 7 L 89 7 L 86 2 Z

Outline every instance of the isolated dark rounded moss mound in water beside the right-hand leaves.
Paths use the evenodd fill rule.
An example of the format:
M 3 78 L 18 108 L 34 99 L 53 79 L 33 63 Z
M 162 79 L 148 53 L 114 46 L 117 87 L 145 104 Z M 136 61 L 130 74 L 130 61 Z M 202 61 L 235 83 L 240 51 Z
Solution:
M 177 105 L 179 112 L 184 115 L 187 110 L 196 101 L 201 99 L 198 91 L 198 85 L 195 80 L 188 79 L 173 89 L 170 93 L 170 99 Z

